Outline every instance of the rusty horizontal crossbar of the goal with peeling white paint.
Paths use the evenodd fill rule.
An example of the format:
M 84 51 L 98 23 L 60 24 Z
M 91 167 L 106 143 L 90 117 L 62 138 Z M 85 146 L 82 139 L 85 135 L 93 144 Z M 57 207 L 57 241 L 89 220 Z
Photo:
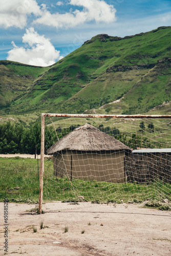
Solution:
M 44 117 L 93 117 L 93 118 L 171 118 L 171 115 L 85 115 L 85 114 L 41 114 Z

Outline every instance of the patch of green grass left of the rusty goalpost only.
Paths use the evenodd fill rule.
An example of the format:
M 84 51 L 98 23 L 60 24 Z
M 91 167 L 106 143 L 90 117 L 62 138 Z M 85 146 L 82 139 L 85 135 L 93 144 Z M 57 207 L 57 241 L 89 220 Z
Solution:
M 15 202 L 37 202 L 39 194 L 37 161 L 15 157 L 0 158 L 0 162 L 1 200 L 8 197 L 10 201 Z

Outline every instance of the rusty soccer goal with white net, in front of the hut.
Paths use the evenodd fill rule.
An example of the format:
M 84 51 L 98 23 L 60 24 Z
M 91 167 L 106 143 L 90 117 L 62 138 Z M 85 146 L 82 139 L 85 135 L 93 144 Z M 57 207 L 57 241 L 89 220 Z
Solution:
M 42 199 L 170 200 L 171 116 L 42 114 Z

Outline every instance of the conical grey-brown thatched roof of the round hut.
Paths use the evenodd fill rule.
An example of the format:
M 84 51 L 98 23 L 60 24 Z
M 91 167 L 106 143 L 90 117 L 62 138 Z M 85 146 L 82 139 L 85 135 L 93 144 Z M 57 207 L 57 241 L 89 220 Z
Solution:
M 118 151 L 130 150 L 130 148 L 112 136 L 86 123 L 57 141 L 48 149 L 47 153 L 53 154 L 62 150 Z

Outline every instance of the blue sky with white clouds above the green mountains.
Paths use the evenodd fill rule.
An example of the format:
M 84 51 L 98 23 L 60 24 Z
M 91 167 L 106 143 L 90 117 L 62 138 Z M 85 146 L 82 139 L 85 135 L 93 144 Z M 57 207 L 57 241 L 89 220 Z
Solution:
M 171 26 L 171 0 L 0 0 L 0 59 L 49 66 L 97 34 Z

